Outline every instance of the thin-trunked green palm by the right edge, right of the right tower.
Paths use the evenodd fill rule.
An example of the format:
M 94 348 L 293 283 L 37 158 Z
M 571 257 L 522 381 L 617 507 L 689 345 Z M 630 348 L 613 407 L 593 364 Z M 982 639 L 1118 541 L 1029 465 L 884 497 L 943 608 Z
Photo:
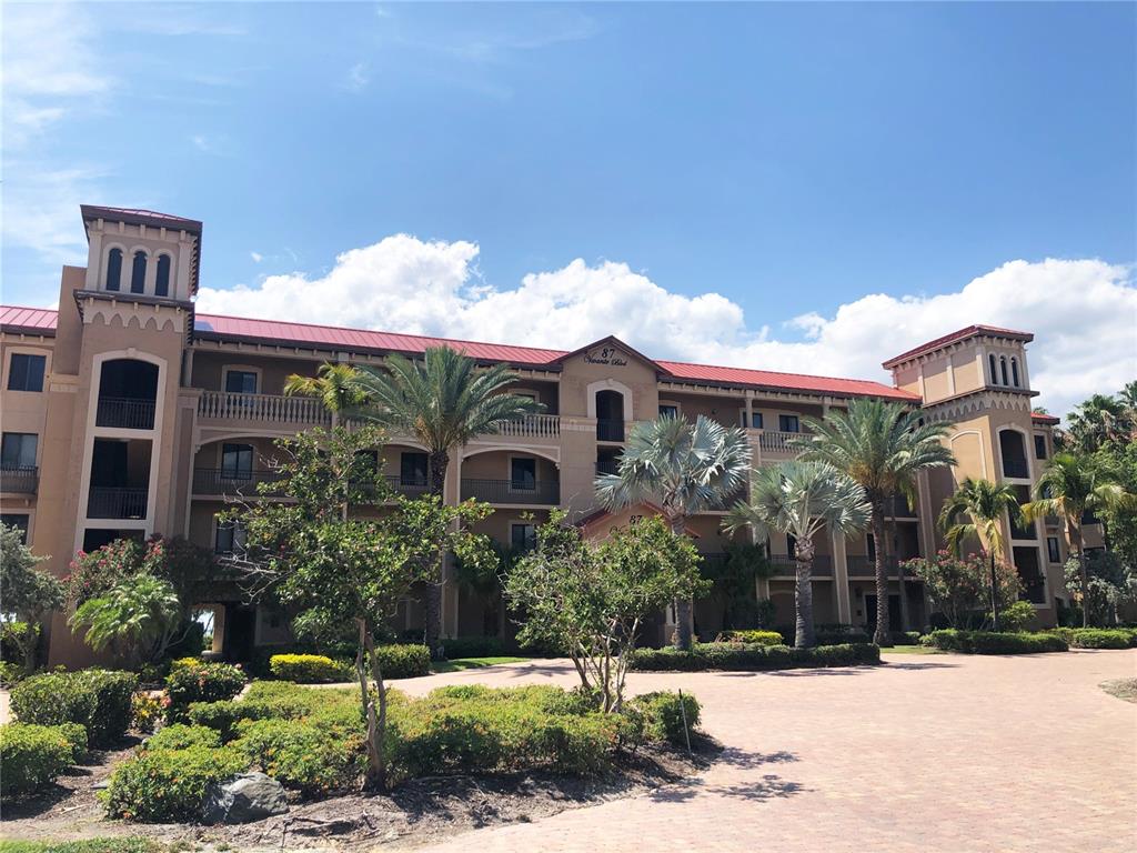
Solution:
M 1082 543 L 1082 516 L 1105 510 L 1135 508 L 1137 496 L 1118 483 L 1112 473 L 1088 456 L 1072 453 L 1055 454 L 1035 483 L 1035 499 L 1022 507 L 1030 521 L 1043 515 L 1057 515 L 1067 527 L 1070 545 L 1078 554 L 1081 575 L 1081 624 L 1089 624 L 1089 575 Z

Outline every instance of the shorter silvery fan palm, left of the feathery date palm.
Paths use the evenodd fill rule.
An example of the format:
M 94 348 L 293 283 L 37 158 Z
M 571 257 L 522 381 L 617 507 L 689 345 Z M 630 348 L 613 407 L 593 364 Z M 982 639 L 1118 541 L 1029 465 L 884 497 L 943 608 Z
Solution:
M 739 502 L 724 528 L 749 528 L 762 538 L 772 530 L 794 537 L 796 583 L 794 645 L 812 646 L 813 537 L 822 529 L 849 536 L 869 524 L 872 506 L 864 488 L 825 462 L 791 459 L 756 469 L 750 478 L 750 500 Z

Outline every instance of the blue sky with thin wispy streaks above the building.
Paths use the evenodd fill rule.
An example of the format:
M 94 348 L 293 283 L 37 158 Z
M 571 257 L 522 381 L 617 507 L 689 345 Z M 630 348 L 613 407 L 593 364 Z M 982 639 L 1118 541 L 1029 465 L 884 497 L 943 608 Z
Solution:
M 202 220 L 202 284 L 254 291 L 234 310 L 284 310 L 254 298 L 265 276 L 318 288 L 407 234 L 476 247 L 450 258 L 466 303 L 578 258 L 607 278 L 558 287 L 626 265 L 719 295 L 727 338 L 659 355 L 773 362 L 754 366 L 800 362 L 841 306 L 958 296 L 1018 259 L 1099 262 L 1103 310 L 1134 305 L 1134 5 L 8 8 L 9 304 L 55 301 L 89 201 Z M 417 289 L 400 258 L 392 300 Z

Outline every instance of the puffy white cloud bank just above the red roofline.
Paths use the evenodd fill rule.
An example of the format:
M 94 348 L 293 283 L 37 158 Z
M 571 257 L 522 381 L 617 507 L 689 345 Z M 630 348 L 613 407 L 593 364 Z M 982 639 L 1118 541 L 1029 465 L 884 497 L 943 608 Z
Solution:
M 688 297 L 626 264 L 576 259 L 485 284 L 479 248 L 406 234 L 343 252 L 326 274 L 202 288 L 198 309 L 243 316 L 572 349 L 606 334 L 658 358 L 888 381 L 880 363 L 972 323 L 1035 332 L 1031 383 L 1054 412 L 1137 376 L 1137 288 L 1102 260 L 1013 260 L 938 296 L 873 293 L 832 316 L 747 325 L 719 293 Z

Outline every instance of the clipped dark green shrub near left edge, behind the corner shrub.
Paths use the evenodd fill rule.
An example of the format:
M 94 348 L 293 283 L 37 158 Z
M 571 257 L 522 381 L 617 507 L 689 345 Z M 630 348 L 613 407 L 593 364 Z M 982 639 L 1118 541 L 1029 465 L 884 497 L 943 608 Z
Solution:
M 20 722 L 41 726 L 77 722 L 86 729 L 91 746 L 107 746 L 126 734 L 136 686 L 132 672 L 98 669 L 49 672 L 16 685 L 11 710 Z

